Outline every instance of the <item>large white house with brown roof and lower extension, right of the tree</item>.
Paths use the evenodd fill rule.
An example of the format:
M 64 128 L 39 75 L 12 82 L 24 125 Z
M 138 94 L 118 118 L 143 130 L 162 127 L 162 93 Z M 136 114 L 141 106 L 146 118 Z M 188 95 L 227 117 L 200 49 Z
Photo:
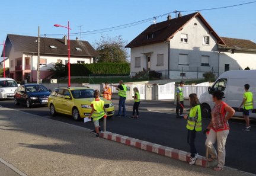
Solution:
M 150 25 L 126 47 L 131 49 L 131 75 L 143 69 L 171 79 L 216 76 L 228 70 L 256 68 L 256 44 L 219 37 L 199 12 Z

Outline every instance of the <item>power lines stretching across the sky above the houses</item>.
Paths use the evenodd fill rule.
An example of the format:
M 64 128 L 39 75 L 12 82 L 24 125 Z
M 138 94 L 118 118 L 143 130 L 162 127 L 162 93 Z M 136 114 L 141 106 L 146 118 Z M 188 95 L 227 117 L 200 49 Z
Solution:
M 147 18 L 145 20 L 140 20 L 140 21 L 136 21 L 136 22 L 133 22 L 133 23 L 128 23 L 128 24 L 123 24 L 123 25 L 117 25 L 117 26 L 114 26 L 114 27 L 108 27 L 108 28 L 102 28 L 102 29 L 98 29 L 98 30 L 91 30 L 91 31 L 84 31 L 84 32 L 81 32 L 80 33 L 71 33 L 70 35 L 71 36 L 75 36 L 76 34 L 80 34 L 81 36 L 82 35 L 89 35 L 89 34 L 98 34 L 98 33 L 106 33 L 108 31 L 114 31 L 114 30 L 121 30 L 123 28 L 128 28 L 128 27 L 132 27 L 132 26 L 135 26 L 135 25 L 139 25 L 139 24 L 143 24 L 143 23 L 147 23 L 151 20 L 155 21 L 156 18 L 160 18 L 160 17 L 163 17 L 165 15 L 168 15 L 168 14 L 171 14 L 171 13 L 177 13 L 177 12 L 195 12 L 195 11 L 209 11 L 209 10 L 214 10 L 214 9 L 223 9 L 223 8 L 231 8 L 231 7 L 238 7 L 238 6 L 241 6 L 241 5 L 247 5 L 247 4 L 253 4 L 253 3 L 256 3 L 256 1 L 251 1 L 251 2 L 246 2 L 246 3 L 242 3 L 242 4 L 236 4 L 236 5 L 229 5 L 229 6 L 224 6 L 224 7 L 216 7 L 216 8 L 206 8 L 206 9 L 194 9 L 194 10 L 184 10 L 184 11 L 172 11 L 172 12 L 168 12 L 168 13 L 165 13 L 165 14 L 162 14 L 162 15 L 158 15 L 156 17 L 152 17 L 152 18 Z M 46 34 L 46 36 L 64 36 L 66 35 L 65 34 Z

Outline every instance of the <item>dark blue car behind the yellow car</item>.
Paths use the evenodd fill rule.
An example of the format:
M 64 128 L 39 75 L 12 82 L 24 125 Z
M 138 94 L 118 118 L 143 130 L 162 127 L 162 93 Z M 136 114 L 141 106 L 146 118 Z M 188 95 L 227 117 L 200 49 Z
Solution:
M 41 84 L 20 85 L 14 92 L 14 103 L 25 104 L 28 108 L 32 105 L 47 105 L 50 90 Z

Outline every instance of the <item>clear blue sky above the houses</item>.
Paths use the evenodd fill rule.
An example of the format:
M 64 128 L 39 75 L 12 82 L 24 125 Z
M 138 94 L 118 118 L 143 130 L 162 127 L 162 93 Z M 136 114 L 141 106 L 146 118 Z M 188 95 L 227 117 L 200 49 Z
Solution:
M 66 28 L 54 27 L 54 24 L 68 25 L 71 33 L 98 30 L 115 27 L 149 19 L 146 23 L 133 25 L 106 33 L 82 35 L 82 40 L 87 40 L 92 45 L 100 37 L 108 35 L 115 37 L 121 35 L 129 43 L 145 28 L 153 24 L 153 17 L 167 14 L 172 11 L 188 11 L 252 2 L 252 0 L 2 0 L 0 11 L 0 43 L 3 43 L 7 34 L 20 34 L 62 38 L 62 36 L 48 36 L 48 34 L 65 34 Z M 255 1 L 256 2 L 256 1 Z M 200 11 L 206 21 L 212 26 L 220 37 L 233 37 L 248 39 L 256 43 L 256 3 L 238 7 Z M 183 15 L 193 12 L 181 12 Z M 171 13 L 172 18 L 175 14 Z M 156 18 L 156 22 L 167 20 L 167 15 Z M 80 38 L 80 34 L 71 36 L 71 39 Z M 2 52 L 2 45 L 0 45 Z

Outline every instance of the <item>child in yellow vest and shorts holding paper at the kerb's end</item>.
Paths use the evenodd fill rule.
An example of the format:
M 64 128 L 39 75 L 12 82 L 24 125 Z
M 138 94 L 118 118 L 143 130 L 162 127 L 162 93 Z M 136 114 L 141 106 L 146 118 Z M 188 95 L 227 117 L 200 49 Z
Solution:
M 106 116 L 107 111 L 105 110 L 104 107 L 104 101 L 100 99 L 100 91 L 99 90 L 95 90 L 94 91 L 94 101 L 92 101 L 91 103 L 91 107 L 92 107 L 92 111 L 91 114 L 89 115 L 89 118 L 91 119 L 91 117 L 93 118 L 94 121 L 94 127 L 95 127 L 95 131 L 96 131 L 96 137 L 99 137 L 99 120 Z

